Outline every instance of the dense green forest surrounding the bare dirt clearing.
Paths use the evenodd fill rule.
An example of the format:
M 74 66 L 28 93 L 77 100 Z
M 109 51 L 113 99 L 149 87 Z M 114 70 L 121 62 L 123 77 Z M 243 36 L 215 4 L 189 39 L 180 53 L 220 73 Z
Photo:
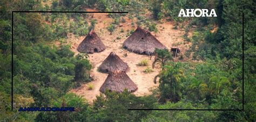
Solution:
M 47 1 L 43 1 L 47 2 Z M 0 2 L 0 115 L 1 120 L 18 121 L 253 121 L 256 115 L 255 13 L 254 1 L 53 1 Z M 90 82 L 92 68 L 86 55 L 74 56 L 68 45 L 55 47 L 49 42 L 65 41 L 72 32 L 86 35 L 86 14 L 14 14 L 14 111 L 11 111 L 11 11 L 68 11 L 98 8 L 102 11 L 129 11 L 130 17 L 150 10 L 154 19 L 173 20 L 185 27 L 184 39 L 191 41 L 193 60 L 203 62 L 164 62 L 158 75 L 160 85 L 152 95 L 137 97 L 129 92 L 107 92 L 92 105 L 69 94 L 80 82 Z M 217 18 L 178 18 L 180 8 L 214 8 Z M 127 111 L 127 109 L 242 109 L 242 13 L 244 13 L 245 105 L 244 111 Z M 110 14 L 117 24 L 120 15 Z M 125 16 L 125 15 L 121 15 Z M 67 21 L 74 18 L 74 22 Z M 50 24 L 46 24 L 47 21 Z M 153 25 L 145 22 L 142 25 Z M 188 21 L 187 26 L 184 21 Z M 68 24 L 69 23 L 69 24 Z M 69 25 L 69 26 L 68 26 Z M 196 25 L 193 36 L 187 32 Z M 211 33 L 211 29 L 218 30 Z M 111 30 L 111 32 L 114 31 Z M 196 49 L 196 47 L 198 47 Z M 161 51 L 159 51 L 161 52 Z M 163 53 L 165 54 L 165 53 Z M 167 54 L 168 55 L 168 54 Z M 164 57 L 164 56 L 163 56 Z M 156 97 L 160 95 L 159 97 Z M 68 106 L 75 112 L 17 112 L 19 106 Z

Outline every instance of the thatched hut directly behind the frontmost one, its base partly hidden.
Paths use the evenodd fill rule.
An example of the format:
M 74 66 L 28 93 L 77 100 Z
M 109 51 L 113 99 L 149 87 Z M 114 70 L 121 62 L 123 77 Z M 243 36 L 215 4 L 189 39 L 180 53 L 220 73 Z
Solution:
M 114 52 L 111 52 L 99 66 L 99 70 L 104 73 L 116 70 L 126 71 L 128 68 L 127 63 L 120 59 Z

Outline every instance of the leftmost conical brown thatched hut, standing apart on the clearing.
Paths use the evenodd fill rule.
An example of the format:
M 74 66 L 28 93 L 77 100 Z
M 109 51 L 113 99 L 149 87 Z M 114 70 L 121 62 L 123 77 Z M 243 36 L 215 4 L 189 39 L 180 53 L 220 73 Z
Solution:
M 99 39 L 95 31 L 91 30 L 85 37 L 85 39 L 77 47 L 77 51 L 80 53 L 95 53 L 105 50 L 105 45 L 102 40 Z

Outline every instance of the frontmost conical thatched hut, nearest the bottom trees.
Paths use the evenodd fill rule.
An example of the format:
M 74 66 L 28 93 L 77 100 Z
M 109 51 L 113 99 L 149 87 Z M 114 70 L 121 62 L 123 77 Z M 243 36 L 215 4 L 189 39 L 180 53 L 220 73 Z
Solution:
M 131 80 L 131 78 L 126 75 L 125 71 L 112 71 L 107 76 L 99 91 L 105 92 L 106 90 L 109 90 L 120 93 L 123 92 L 125 89 L 127 89 L 129 92 L 133 92 L 136 91 L 138 87 Z

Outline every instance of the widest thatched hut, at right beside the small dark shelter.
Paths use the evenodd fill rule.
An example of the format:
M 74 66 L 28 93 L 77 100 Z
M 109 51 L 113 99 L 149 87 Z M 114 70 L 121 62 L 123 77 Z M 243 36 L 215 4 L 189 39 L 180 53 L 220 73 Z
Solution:
M 149 31 L 138 27 L 129 38 L 124 41 L 123 47 L 128 51 L 151 55 L 156 48 L 166 48 Z

